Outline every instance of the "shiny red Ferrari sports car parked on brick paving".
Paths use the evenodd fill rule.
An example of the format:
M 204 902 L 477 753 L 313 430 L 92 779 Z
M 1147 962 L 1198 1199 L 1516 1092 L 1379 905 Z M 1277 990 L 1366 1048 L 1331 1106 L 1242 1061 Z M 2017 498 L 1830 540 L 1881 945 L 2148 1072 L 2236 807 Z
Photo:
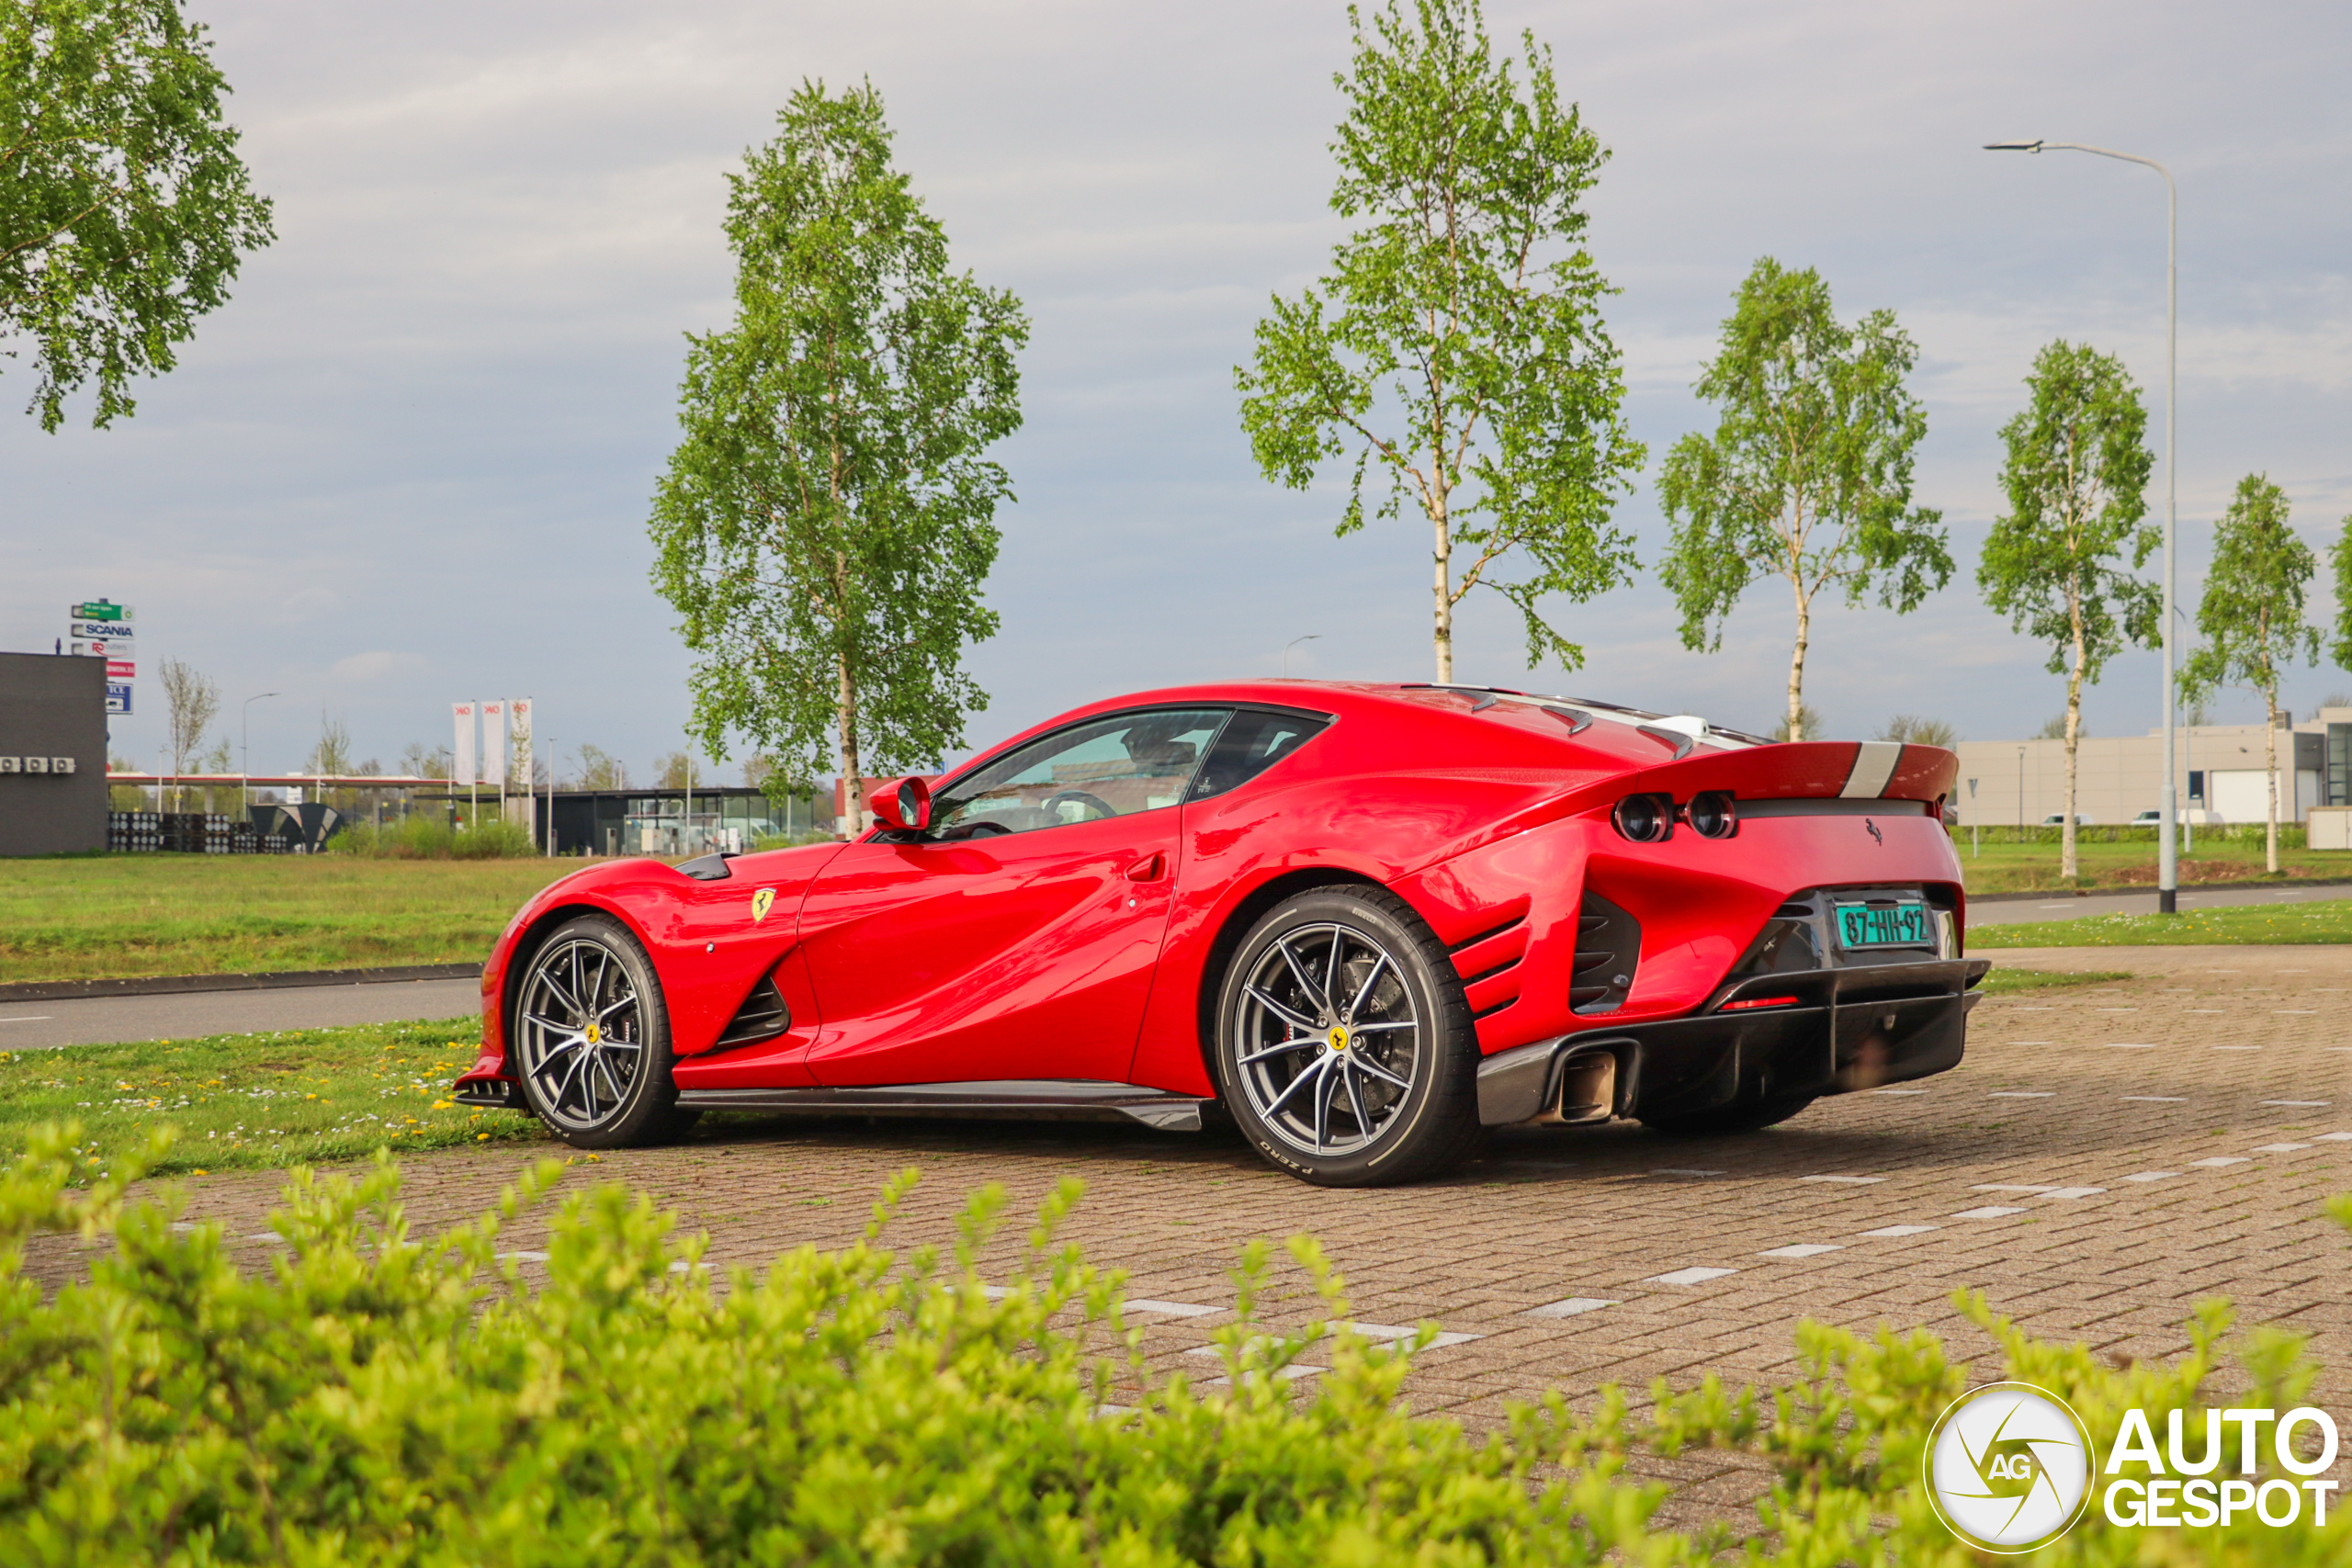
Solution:
M 456 1098 L 579 1147 L 1214 1103 L 1327 1185 L 1482 1126 L 1762 1128 L 1959 1063 L 1955 769 L 1489 686 L 1124 696 L 877 790 L 854 842 L 564 877 Z

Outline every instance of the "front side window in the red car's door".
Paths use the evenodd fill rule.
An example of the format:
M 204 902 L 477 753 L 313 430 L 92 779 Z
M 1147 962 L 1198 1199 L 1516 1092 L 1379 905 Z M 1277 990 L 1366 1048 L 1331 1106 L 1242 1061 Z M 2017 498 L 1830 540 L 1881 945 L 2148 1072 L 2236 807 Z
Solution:
M 1221 708 L 1162 708 L 1044 736 L 943 790 L 931 837 L 1035 832 L 1176 806 L 1223 722 Z

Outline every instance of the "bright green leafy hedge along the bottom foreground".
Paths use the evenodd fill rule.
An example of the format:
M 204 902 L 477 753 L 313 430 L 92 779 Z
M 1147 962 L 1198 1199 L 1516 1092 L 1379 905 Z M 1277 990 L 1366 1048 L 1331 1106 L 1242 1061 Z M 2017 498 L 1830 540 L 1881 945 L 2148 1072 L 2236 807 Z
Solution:
M 1054 1244 L 1077 1201 L 1042 1208 L 1000 1300 L 978 1260 L 1002 1194 L 971 1199 L 962 1244 L 880 1246 L 913 1173 L 866 1239 L 713 1279 L 701 1241 L 619 1187 L 572 1194 L 546 1284 L 499 1237 L 560 1175 L 548 1161 L 494 1213 L 419 1241 L 379 1157 L 360 1180 L 296 1171 L 282 1255 L 240 1272 L 216 1225 L 125 1201 L 118 1168 L 68 1180 L 73 1131 L 47 1131 L 0 1180 L 0 1563 L 955 1563 L 1051 1568 L 1468 1568 L 1472 1563 L 1983 1561 L 1929 1512 L 1924 1436 L 1966 1378 L 1926 1333 L 1804 1326 L 1806 1375 L 1757 1399 L 1717 1380 L 1621 1392 L 1578 1415 L 1555 1394 L 1470 1439 L 1414 1418 L 1402 1352 L 1348 1331 L 1312 1241 L 1291 1255 L 1319 1321 L 1254 1316 L 1268 1251 L 1216 1331 L 1225 1385 L 1148 1375 L 1120 1321 L 1120 1276 Z M 106 1237 L 89 1281 L 42 1298 L 19 1279 L 35 1227 Z M 2030 1340 L 1980 1300 L 2011 1375 L 2074 1403 L 2105 1446 L 2119 1413 L 2192 1406 L 2225 1312 L 2178 1366 L 2112 1368 Z M 1334 1328 L 1338 1326 L 1338 1328 Z M 1430 1331 L 1423 1328 L 1423 1335 Z M 1329 1371 L 1294 1380 L 1308 1349 Z M 2312 1382 L 2300 1340 L 2258 1331 L 2253 1396 Z M 2161 1425 L 2161 1415 L 2157 1418 Z M 1717 1446 L 1776 1483 L 1752 1530 L 1653 1528 L 1637 1453 Z M 2352 1530 L 2143 1533 L 2098 1509 L 2037 1561 L 2343 1563 Z

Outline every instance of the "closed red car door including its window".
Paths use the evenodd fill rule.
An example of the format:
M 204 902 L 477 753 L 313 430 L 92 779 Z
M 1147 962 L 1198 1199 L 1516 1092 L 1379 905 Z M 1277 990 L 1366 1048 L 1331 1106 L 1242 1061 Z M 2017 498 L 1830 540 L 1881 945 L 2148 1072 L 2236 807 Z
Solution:
M 800 912 L 816 1081 L 1122 1081 L 1178 806 L 1223 722 L 1155 708 L 1073 724 L 943 785 L 929 832 L 835 856 Z

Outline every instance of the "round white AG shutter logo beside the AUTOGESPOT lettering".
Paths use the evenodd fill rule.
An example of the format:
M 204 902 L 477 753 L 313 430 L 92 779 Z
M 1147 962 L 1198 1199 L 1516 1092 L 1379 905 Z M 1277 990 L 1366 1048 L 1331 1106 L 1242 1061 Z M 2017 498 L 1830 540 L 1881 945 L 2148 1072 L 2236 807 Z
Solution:
M 1952 1401 L 1926 1439 L 1936 1514 L 1983 1552 L 2032 1552 L 2074 1528 L 2091 1502 L 2091 1434 L 2030 1382 L 1987 1382 Z

